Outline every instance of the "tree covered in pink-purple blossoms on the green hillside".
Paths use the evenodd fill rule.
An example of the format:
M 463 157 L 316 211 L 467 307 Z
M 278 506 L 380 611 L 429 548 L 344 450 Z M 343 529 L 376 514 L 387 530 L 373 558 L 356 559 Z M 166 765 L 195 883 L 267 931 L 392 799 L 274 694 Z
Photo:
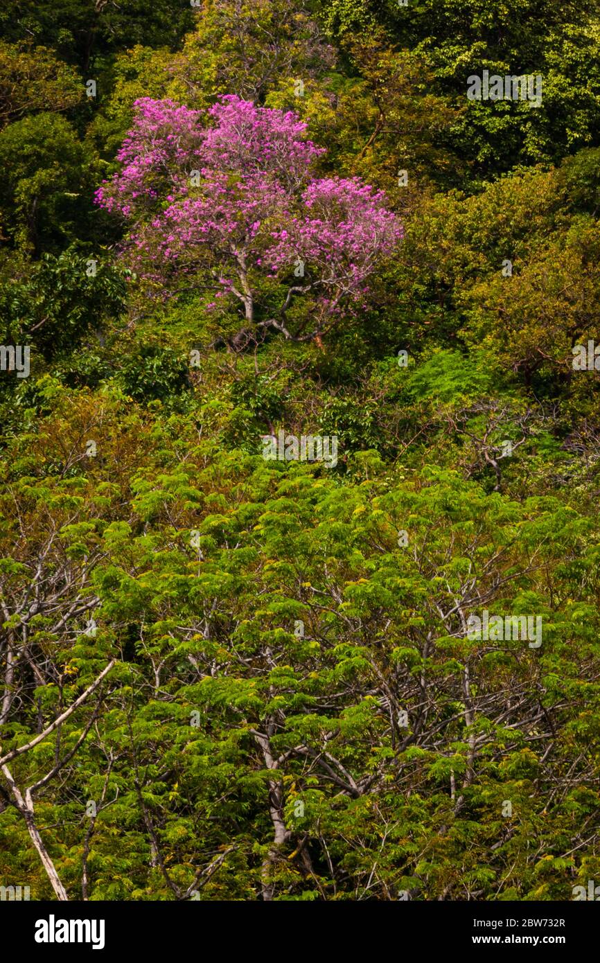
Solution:
M 400 222 L 357 178 L 316 176 L 325 151 L 293 113 L 230 95 L 203 119 L 136 101 L 121 168 L 97 192 L 131 225 L 122 256 L 161 293 L 185 277 L 233 299 L 245 325 L 236 347 L 269 328 L 300 341 L 325 333 L 364 303 Z

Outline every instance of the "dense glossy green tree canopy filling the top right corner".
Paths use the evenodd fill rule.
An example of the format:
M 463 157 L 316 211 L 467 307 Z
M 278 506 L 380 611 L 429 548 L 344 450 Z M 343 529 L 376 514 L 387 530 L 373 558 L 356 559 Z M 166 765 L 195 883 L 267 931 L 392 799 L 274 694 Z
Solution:
M 335 37 L 373 35 L 424 58 L 433 92 L 462 110 L 447 145 L 470 162 L 477 179 L 516 164 L 557 163 L 597 139 L 600 84 L 596 0 L 557 5 L 553 0 L 327 0 L 327 28 Z M 483 69 L 501 76 L 540 74 L 539 109 L 527 102 L 466 102 L 467 78 Z M 467 178 L 467 183 L 473 178 Z M 475 180 L 477 184 L 477 180 Z

